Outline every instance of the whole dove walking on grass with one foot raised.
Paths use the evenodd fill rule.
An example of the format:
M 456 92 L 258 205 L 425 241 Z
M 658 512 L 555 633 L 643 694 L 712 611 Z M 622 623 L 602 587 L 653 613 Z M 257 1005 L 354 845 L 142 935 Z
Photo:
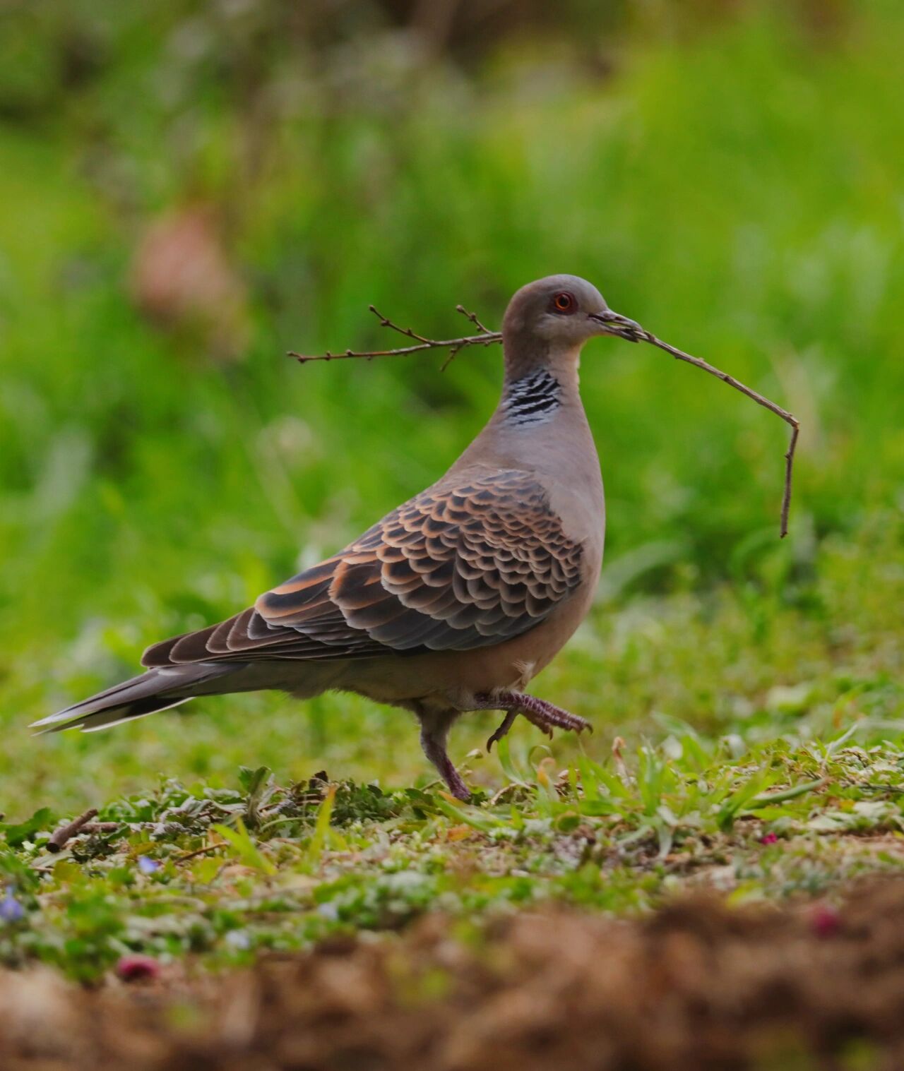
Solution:
M 253 607 L 148 648 L 147 673 L 35 724 L 92 731 L 196 695 L 352 691 L 413 711 L 461 798 L 446 753 L 461 713 L 507 711 L 489 743 L 517 713 L 546 731 L 587 727 L 521 690 L 583 619 L 602 560 L 581 347 L 633 327 L 575 276 L 524 287 L 502 326 L 499 406 L 446 476 Z

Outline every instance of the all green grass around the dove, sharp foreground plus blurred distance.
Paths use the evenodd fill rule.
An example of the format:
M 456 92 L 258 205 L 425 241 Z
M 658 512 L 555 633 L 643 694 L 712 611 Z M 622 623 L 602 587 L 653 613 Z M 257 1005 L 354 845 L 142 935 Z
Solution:
M 49 61 L 0 74 L 5 959 L 93 978 L 130 949 L 231 961 L 434 906 L 622 911 L 698 881 L 783 897 L 898 865 L 893 5 L 828 36 L 766 5 L 684 39 L 628 34 L 605 75 L 529 43 L 465 75 L 402 62 L 387 31 L 318 61 L 313 89 L 275 44 L 272 69 L 241 66 L 240 12 L 41 17 L 3 47 L 62 56 L 75 33 L 96 61 L 73 84 Z M 148 228 L 182 220 L 184 243 L 199 206 L 229 300 L 151 316 Z M 592 738 L 546 750 L 517 725 L 507 755 L 479 756 L 494 725 L 468 719 L 453 748 L 480 795 L 461 808 L 406 715 L 346 696 L 29 737 L 145 644 L 232 613 L 420 489 L 498 390 L 493 350 L 442 376 L 284 350 L 373 341 L 371 301 L 428 332 L 457 301 L 495 322 L 559 270 L 803 421 L 780 543 L 785 428 L 663 355 L 588 348 L 607 559 L 537 691 Z M 241 767 L 285 790 L 265 774 L 250 805 Z M 49 856 L 57 819 L 89 805 L 127 827 Z

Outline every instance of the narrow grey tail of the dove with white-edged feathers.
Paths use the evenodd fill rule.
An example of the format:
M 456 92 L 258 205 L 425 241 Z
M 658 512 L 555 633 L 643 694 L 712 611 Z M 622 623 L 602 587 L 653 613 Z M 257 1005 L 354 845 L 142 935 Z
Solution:
M 133 718 L 144 718 L 157 710 L 178 707 L 180 703 L 207 691 L 205 685 L 208 681 L 225 677 L 239 668 L 243 668 L 243 665 L 235 662 L 196 662 L 149 669 L 139 677 L 92 695 L 90 699 L 42 718 L 31 727 L 39 728 L 42 733 L 75 728 L 80 728 L 82 733 L 96 733 Z

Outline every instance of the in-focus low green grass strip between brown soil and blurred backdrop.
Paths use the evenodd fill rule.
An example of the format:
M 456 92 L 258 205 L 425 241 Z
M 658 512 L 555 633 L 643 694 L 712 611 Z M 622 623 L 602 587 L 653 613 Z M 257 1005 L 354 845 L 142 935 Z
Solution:
M 90 981 L 131 953 L 223 966 L 436 908 L 636 912 L 689 887 L 739 902 L 901 872 L 904 749 L 875 725 L 750 749 L 669 727 L 628 761 L 617 749 L 562 770 L 546 749 L 531 765 L 502 741 L 506 784 L 471 804 L 320 779 L 280 788 L 244 768 L 231 788 L 168 780 L 112 802 L 100 817 L 116 829 L 56 855 L 44 810 L 4 828 L 0 959 Z

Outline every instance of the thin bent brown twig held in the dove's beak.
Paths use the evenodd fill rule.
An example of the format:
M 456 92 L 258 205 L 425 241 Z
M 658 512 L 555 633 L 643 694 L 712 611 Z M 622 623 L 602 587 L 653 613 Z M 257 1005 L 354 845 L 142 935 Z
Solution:
M 455 357 L 458 350 L 464 349 L 466 346 L 491 346 L 494 343 L 502 341 L 501 331 L 491 331 L 477 318 L 474 313 L 469 313 L 464 305 L 456 305 L 455 312 L 461 313 L 466 319 L 470 320 L 471 323 L 478 329 L 478 334 L 476 335 L 465 335 L 461 338 L 426 338 L 424 335 L 419 335 L 411 328 L 401 328 L 397 323 L 393 323 L 388 317 L 383 316 L 382 313 L 378 312 L 373 305 L 368 306 L 371 312 L 379 319 L 380 326 L 389 328 L 392 331 L 398 332 L 398 334 L 405 335 L 407 338 L 413 338 L 413 346 L 401 346 L 396 349 L 371 349 L 371 350 L 351 350 L 347 349 L 343 353 L 332 353 L 327 350 L 326 353 L 316 355 L 303 355 L 297 353 L 295 350 L 289 350 L 289 357 L 293 357 L 300 364 L 306 364 L 308 361 L 334 361 L 334 360 L 347 360 L 352 358 L 363 358 L 366 361 L 372 360 L 375 357 L 404 357 L 407 353 L 421 353 L 425 350 L 431 349 L 448 349 L 449 357 L 442 364 L 442 371 L 445 371 L 449 362 Z M 685 353 L 683 350 L 676 349 L 675 346 L 669 346 L 667 342 L 663 342 L 661 338 L 657 338 L 654 334 L 645 330 L 642 327 L 626 328 L 622 331 L 613 332 L 614 334 L 619 334 L 622 338 L 628 338 L 630 342 L 648 342 L 651 346 L 657 346 L 659 349 L 665 350 L 666 353 L 671 353 L 672 357 L 679 361 L 687 361 L 688 364 L 693 364 L 697 368 L 702 368 L 704 372 L 708 372 L 711 376 L 715 376 L 717 379 L 721 379 L 723 383 L 727 383 L 729 387 L 734 387 L 736 391 L 740 391 L 741 394 L 745 394 L 749 398 L 756 402 L 757 405 L 762 405 L 764 409 L 768 409 L 773 412 L 777 417 L 781 419 L 792 428 L 790 442 L 788 443 L 787 452 L 785 453 L 785 481 L 784 491 L 782 493 L 782 508 L 781 508 L 781 527 L 780 534 L 784 539 L 788 533 L 788 513 L 790 511 L 790 498 L 792 498 L 792 478 L 794 470 L 794 456 L 795 450 L 797 448 L 797 438 L 800 434 L 800 422 L 796 417 L 789 413 L 786 409 L 783 409 L 780 405 L 775 405 L 769 398 L 759 394 L 757 391 L 752 390 L 747 387 L 739 379 L 735 379 L 734 376 L 729 376 L 727 373 L 722 372 L 714 365 L 702 361 L 698 357 L 691 357 L 690 353 Z

